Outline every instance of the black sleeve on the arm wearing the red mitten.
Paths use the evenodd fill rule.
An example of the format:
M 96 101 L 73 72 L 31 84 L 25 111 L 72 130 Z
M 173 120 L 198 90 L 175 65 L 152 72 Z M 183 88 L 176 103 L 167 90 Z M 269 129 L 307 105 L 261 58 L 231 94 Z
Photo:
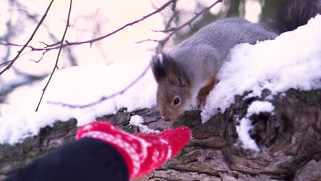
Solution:
M 7 180 L 127 181 L 128 174 L 125 160 L 114 147 L 97 139 L 83 138 L 15 171 Z

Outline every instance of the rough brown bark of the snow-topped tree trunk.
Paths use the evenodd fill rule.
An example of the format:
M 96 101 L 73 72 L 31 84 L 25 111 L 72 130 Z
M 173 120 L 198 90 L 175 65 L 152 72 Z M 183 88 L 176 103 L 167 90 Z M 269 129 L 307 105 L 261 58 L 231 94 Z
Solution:
M 129 125 L 132 114 L 139 114 L 150 128 L 187 125 L 193 139 L 176 156 L 157 171 L 138 180 L 321 180 L 321 90 L 288 90 L 268 99 L 274 113 L 254 114 L 251 136 L 261 147 L 255 153 L 241 149 L 235 125 L 246 116 L 254 100 L 266 100 L 269 90 L 261 97 L 235 97 L 235 104 L 202 124 L 200 112 L 186 112 L 173 125 L 160 120 L 156 109 L 107 115 L 108 120 L 123 130 L 137 132 Z M 0 180 L 32 160 L 52 152 L 63 143 L 73 141 L 77 121 L 56 122 L 38 136 L 17 145 L 0 145 Z

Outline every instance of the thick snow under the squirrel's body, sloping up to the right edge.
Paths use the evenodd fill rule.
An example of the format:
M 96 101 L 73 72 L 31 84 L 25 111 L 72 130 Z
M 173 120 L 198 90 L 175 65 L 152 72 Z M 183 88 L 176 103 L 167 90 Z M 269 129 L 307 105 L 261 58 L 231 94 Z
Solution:
M 206 122 L 219 110 L 224 112 L 234 103 L 235 95 L 246 91 L 253 90 L 250 96 L 254 97 L 268 88 L 272 97 L 289 88 L 321 88 L 320 29 L 319 14 L 307 25 L 281 34 L 275 40 L 233 47 L 228 56 L 230 61 L 217 75 L 219 83 L 207 97 L 202 121 Z

